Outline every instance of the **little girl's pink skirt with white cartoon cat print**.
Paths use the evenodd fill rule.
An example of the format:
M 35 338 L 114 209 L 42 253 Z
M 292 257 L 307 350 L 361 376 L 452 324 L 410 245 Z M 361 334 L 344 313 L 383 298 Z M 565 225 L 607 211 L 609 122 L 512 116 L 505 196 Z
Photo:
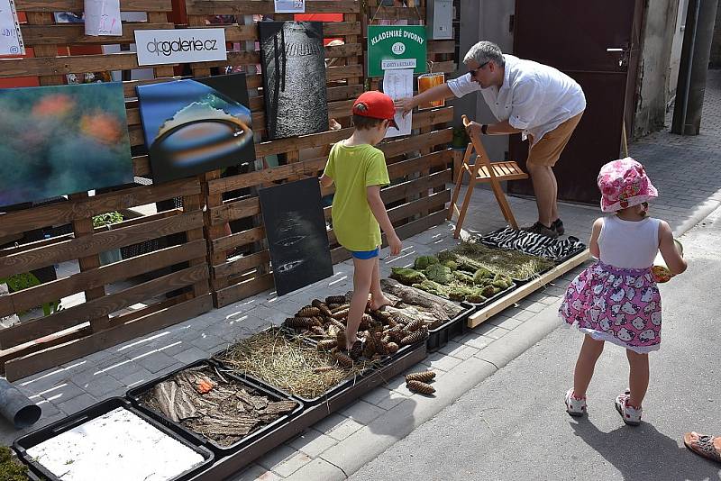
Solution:
M 615 268 L 598 261 L 570 283 L 559 315 L 595 340 L 635 352 L 661 345 L 661 295 L 651 268 Z

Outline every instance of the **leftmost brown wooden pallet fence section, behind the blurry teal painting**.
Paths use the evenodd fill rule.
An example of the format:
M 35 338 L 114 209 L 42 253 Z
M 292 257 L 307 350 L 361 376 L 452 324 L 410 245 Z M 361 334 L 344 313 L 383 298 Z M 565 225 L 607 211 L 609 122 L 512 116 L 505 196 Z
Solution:
M 82 23 L 55 22 L 54 12 L 81 13 L 82 0 L 18 0 L 16 5 L 27 14 L 28 22 L 21 28 L 35 58 L 0 60 L 0 77 L 39 77 L 41 86 L 64 84 L 70 74 L 121 71 L 119 75 L 128 77 L 130 70 L 139 68 L 136 55 L 123 50 L 134 41 L 133 32 L 173 28 L 168 21 L 170 0 L 121 0 L 123 12 L 147 15 L 146 22 L 123 22 L 121 37 L 90 37 Z M 68 47 L 88 45 L 119 45 L 116 50 L 121 51 L 59 55 L 59 51 L 68 52 Z M 173 68 L 153 68 L 151 74 L 151 79 L 123 82 L 131 144 L 141 149 L 134 87 L 172 77 Z M 25 313 L 22 322 L 0 330 L 0 362 L 9 379 L 59 366 L 212 308 L 201 181 L 194 177 L 149 185 L 145 156 L 133 158 L 133 170 L 146 181 L 93 196 L 72 194 L 55 203 L 16 206 L 0 214 L 0 239 L 17 242 L 0 249 L 0 278 L 39 268 L 54 270 L 57 264 L 64 273 L 0 296 L 0 318 Z M 146 214 L 132 210 L 164 201 L 182 207 L 157 213 L 142 209 Z M 94 216 L 114 212 L 123 214 L 122 222 L 94 227 Z M 27 235 L 39 231 L 48 238 L 41 235 L 37 241 L 37 236 Z M 167 245 L 167 236 L 173 235 L 182 241 Z M 106 256 L 117 250 L 120 255 Z M 60 299 L 64 299 L 62 309 L 56 310 Z M 41 304 L 53 306 L 50 315 L 37 315 L 33 308 Z M 36 314 L 28 315 L 29 311 Z

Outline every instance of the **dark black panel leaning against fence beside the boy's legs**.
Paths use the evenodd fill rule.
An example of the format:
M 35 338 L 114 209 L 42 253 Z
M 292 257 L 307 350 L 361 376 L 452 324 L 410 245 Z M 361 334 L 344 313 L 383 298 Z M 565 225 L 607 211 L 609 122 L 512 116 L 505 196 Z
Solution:
M 277 295 L 333 276 L 318 179 L 260 189 L 259 196 Z

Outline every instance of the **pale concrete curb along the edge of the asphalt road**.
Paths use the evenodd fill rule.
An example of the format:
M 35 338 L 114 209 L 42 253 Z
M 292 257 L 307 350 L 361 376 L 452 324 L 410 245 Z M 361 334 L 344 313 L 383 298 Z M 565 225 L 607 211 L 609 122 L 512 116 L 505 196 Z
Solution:
M 533 319 L 524 322 L 521 329 L 510 331 L 439 377 L 434 382 L 437 390 L 434 397 L 413 395 L 406 398 L 375 421 L 324 451 L 318 458 L 322 462 L 309 463 L 287 479 L 347 479 L 560 325 L 558 305 L 543 308 Z

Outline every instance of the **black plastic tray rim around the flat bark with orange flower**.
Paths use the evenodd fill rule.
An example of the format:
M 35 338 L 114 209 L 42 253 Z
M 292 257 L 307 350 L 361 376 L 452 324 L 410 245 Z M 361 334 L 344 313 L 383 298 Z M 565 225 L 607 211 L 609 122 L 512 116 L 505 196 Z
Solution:
M 163 413 L 160 413 L 158 411 L 155 411 L 151 407 L 141 404 L 141 395 L 147 393 L 150 391 L 154 386 L 158 385 L 159 383 L 165 381 L 166 379 L 169 379 L 170 377 L 175 376 L 180 371 L 184 371 L 188 368 L 198 368 L 201 366 L 210 366 L 214 368 L 221 368 L 220 364 L 215 362 L 212 359 L 200 359 L 196 362 L 193 362 L 191 364 L 188 364 L 187 366 L 184 366 L 182 368 L 178 368 L 169 374 L 166 374 L 163 377 L 158 377 L 156 379 L 153 379 L 147 383 L 143 383 L 140 386 L 133 387 L 132 389 L 128 390 L 126 396 L 128 399 L 131 400 L 132 404 L 135 406 L 136 409 L 141 411 L 142 413 L 146 413 L 149 416 L 151 416 L 153 419 L 158 420 L 165 426 L 168 426 L 169 429 L 177 432 L 180 436 L 183 436 L 187 440 L 191 440 L 193 442 L 196 442 L 197 444 L 201 446 L 205 446 L 208 449 L 211 449 L 215 454 L 219 456 L 226 456 L 228 454 L 232 454 L 235 451 L 238 451 L 239 449 L 242 449 L 247 444 L 251 443 L 253 440 L 256 440 L 260 436 L 262 436 L 267 431 L 272 431 L 275 429 L 278 424 L 282 422 L 287 422 L 290 418 L 295 417 L 298 413 L 303 411 L 304 405 L 301 401 L 299 401 L 295 397 L 291 397 L 289 395 L 286 395 L 285 393 L 282 393 L 278 391 L 277 389 L 273 388 L 272 386 L 268 386 L 267 384 L 263 383 L 260 380 L 250 380 L 250 379 L 242 379 L 234 376 L 228 376 L 233 378 L 233 380 L 238 381 L 254 391 L 260 392 L 262 395 L 266 395 L 271 399 L 272 401 L 281 401 L 281 400 L 290 400 L 295 401 L 298 406 L 293 412 L 285 414 L 283 416 L 280 416 L 277 420 L 274 422 L 270 422 L 269 424 L 266 424 L 265 426 L 261 427 L 258 431 L 252 431 L 250 434 L 242 438 L 241 440 L 238 440 L 231 444 L 230 446 L 221 446 L 217 444 L 214 440 L 210 440 L 203 436 L 200 433 L 197 433 L 196 431 L 192 431 L 185 427 L 180 422 L 174 422 L 170 420 L 168 417 L 166 417 Z M 224 376 L 226 373 L 223 373 Z

